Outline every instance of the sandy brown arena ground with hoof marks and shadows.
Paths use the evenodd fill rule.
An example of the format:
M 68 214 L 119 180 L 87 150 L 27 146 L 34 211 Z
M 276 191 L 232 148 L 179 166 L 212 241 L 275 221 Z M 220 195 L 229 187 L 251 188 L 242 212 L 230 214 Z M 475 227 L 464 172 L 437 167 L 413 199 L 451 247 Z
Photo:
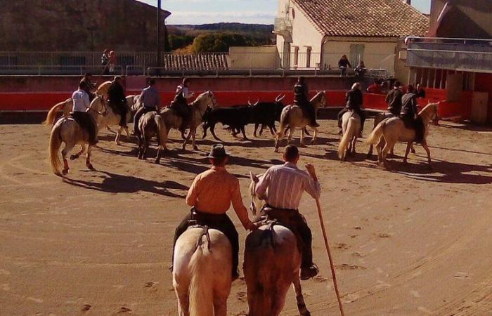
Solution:
M 302 164 L 316 166 L 323 186 L 346 314 L 492 315 L 492 129 L 433 126 L 433 171 L 420 146 L 408 165 L 393 159 L 392 171 L 384 171 L 363 154 L 339 162 L 335 121 L 321 124 L 318 145 L 302 148 Z M 104 132 L 93 152 L 98 171 L 79 159 L 59 178 L 47 162 L 48 129 L 4 125 L 0 133 L 0 314 L 176 315 L 167 270 L 171 239 L 188 211 L 188 185 L 208 168 L 212 140 L 199 142 L 202 152 L 171 143 L 175 150 L 156 165 L 136 159 L 134 143 L 117 146 Z M 219 136 L 235 156 L 229 171 L 240 178 L 248 205 L 248 171 L 261 173 L 280 154 L 269 136 Z M 359 143 L 358 152 L 367 149 Z M 403 150 L 397 145 L 397 154 Z M 307 195 L 301 210 L 321 269 L 302 283 L 306 303 L 313 315 L 337 315 L 316 206 Z M 243 244 L 245 231 L 230 216 Z M 247 312 L 245 292 L 245 282 L 233 284 L 229 315 Z M 297 315 L 292 292 L 283 315 Z

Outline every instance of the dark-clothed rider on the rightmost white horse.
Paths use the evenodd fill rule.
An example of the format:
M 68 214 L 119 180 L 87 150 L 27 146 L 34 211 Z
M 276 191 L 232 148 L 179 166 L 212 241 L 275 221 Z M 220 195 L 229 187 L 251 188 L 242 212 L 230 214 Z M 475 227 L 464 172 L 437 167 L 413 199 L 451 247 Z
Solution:
M 407 93 L 401 98 L 400 119 L 408 129 L 415 129 L 415 142 L 422 143 L 424 140 L 425 124 L 422 118 L 418 116 L 417 110 L 417 91 L 411 84 L 407 87 Z

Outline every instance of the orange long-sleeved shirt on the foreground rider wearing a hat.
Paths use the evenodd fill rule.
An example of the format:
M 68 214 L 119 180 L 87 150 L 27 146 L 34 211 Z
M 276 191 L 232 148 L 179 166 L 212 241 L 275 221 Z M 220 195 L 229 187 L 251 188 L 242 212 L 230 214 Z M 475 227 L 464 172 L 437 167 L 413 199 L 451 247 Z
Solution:
M 231 202 L 246 228 L 250 219 L 245 205 L 242 204 L 239 180 L 221 166 L 212 166 L 212 169 L 196 176 L 186 196 L 186 203 L 203 213 L 224 214 L 231 207 Z

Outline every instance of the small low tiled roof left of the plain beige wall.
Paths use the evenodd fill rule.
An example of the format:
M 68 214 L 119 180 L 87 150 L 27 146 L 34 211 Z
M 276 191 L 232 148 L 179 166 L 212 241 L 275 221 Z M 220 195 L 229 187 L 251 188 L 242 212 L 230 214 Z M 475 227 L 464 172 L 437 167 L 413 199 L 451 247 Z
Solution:
M 225 70 L 228 67 L 226 53 L 165 54 L 163 64 L 169 70 Z

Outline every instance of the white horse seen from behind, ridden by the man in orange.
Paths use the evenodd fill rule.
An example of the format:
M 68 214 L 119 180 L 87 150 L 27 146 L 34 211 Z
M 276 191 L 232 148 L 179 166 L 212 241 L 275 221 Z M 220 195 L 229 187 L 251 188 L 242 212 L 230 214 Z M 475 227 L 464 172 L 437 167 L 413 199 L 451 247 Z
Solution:
M 179 316 L 226 316 L 232 246 L 219 230 L 188 228 L 176 241 L 173 287 Z

